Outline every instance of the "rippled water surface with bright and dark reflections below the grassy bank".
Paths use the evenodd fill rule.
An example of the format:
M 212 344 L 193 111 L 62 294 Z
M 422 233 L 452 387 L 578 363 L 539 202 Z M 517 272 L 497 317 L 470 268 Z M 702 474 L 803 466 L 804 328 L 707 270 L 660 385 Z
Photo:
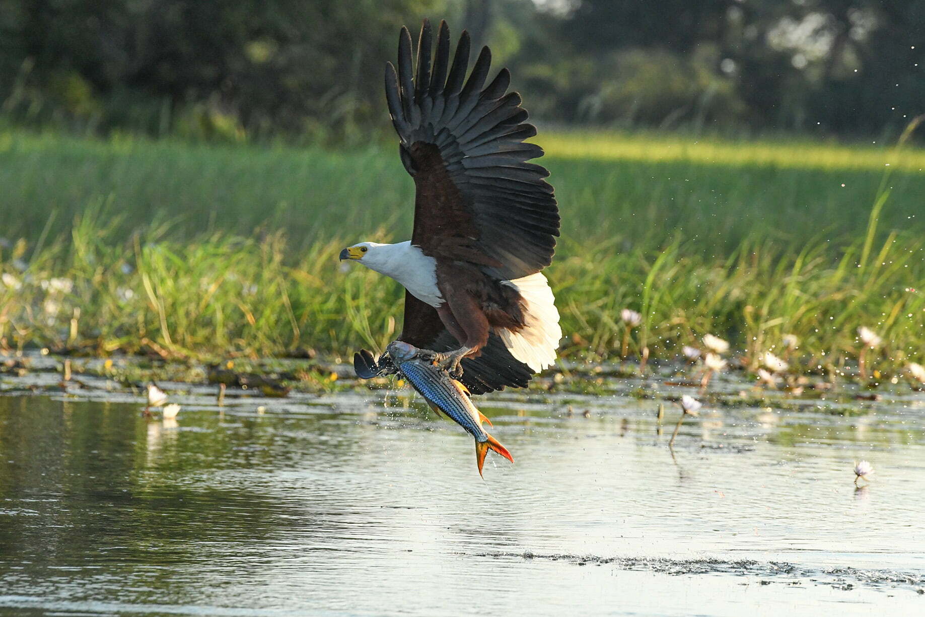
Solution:
M 125 398 L 0 397 L 0 609 L 925 607 L 925 418 L 908 401 L 849 418 L 714 410 L 672 459 L 654 403 L 586 398 L 590 417 L 570 417 L 501 395 L 483 411 L 517 463 L 489 455 L 484 482 L 471 437 L 400 399 L 211 401 L 162 421 Z

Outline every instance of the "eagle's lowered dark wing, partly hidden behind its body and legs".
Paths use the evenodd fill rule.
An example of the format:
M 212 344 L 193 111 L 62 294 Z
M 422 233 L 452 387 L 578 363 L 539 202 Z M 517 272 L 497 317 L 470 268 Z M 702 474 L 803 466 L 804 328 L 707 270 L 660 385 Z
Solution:
M 404 327 L 399 340 L 435 352 L 449 352 L 460 345 L 443 326 L 437 310 L 408 292 L 405 292 Z M 533 370 L 514 358 L 504 341 L 492 333 L 477 358 L 462 359 L 460 381 L 473 394 L 485 394 L 505 386 L 526 388 L 532 376 Z

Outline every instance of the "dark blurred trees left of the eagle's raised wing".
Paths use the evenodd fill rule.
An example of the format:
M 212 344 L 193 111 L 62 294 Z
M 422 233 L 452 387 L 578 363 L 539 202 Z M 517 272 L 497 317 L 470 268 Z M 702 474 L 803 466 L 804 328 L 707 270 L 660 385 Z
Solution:
M 432 0 L 5 0 L 8 113 L 194 137 L 351 131 L 381 116 L 401 24 Z

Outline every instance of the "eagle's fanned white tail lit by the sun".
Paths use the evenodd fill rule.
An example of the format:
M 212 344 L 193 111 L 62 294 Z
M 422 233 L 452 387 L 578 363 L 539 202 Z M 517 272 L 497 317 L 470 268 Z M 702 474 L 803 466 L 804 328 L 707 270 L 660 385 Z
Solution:
M 529 277 L 506 280 L 524 299 L 525 327 L 519 332 L 500 328 L 498 335 L 512 356 L 537 373 L 556 362 L 556 350 L 562 338 L 559 310 L 549 283 L 537 272 Z

